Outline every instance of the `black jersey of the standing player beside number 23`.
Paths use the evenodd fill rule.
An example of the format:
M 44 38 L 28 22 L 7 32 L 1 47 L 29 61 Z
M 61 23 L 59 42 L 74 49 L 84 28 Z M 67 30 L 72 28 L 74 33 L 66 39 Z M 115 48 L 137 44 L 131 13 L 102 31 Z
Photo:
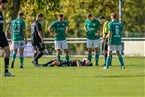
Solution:
M 38 31 L 42 31 L 42 27 L 41 24 L 37 20 L 35 20 L 31 24 L 31 40 L 34 44 L 41 42 L 41 38 L 38 35 Z

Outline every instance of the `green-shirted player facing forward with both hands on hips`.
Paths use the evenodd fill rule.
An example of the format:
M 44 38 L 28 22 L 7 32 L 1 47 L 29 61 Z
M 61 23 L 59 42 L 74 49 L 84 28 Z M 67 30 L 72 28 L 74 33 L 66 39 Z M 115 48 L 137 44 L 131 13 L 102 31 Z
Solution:
M 69 25 L 63 20 L 63 14 L 58 14 L 58 20 L 53 22 L 48 28 L 49 32 L 55 37 L 56 59 L 60 60 L 61 49 L 65 52 L 65 59 L 69 61 L 68 45 L 66 34 L 69 30 Z

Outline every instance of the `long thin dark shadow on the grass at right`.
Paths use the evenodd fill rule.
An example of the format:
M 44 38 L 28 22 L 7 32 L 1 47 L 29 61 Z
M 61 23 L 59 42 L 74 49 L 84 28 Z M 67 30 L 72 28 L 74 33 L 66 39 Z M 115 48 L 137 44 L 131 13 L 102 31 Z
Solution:
M 124 78 L 124 77 L 145 77 L 145 75 L 103 75 L 103 76 L 96 76 L 97 78 Z

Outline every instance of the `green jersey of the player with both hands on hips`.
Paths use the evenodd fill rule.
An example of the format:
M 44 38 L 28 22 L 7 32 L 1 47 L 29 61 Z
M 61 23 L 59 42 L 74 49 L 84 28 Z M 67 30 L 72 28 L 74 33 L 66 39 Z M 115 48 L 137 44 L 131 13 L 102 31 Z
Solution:
M 52 28 L 54 30 L 54 32 L 56 34 L 58 34 L 58 36 L 55 37 L 56 41 L 61 41 L 61 40 L 65 40 L 66 39 L 66 27 L 68 27 L 68 23 L 66 21 L 55 21 L 50 25 L 50 28 Z

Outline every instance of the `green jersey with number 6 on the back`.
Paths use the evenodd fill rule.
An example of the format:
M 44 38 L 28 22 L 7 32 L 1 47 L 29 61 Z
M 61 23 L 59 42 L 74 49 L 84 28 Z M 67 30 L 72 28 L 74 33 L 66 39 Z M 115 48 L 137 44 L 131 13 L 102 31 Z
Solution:
M 111 31 L 110 44 L 111 45 L 121 45 L 121 35 L 122 35 L 123 25 L 122 23 L 114 20 L 109 23 L 109 31 Z

